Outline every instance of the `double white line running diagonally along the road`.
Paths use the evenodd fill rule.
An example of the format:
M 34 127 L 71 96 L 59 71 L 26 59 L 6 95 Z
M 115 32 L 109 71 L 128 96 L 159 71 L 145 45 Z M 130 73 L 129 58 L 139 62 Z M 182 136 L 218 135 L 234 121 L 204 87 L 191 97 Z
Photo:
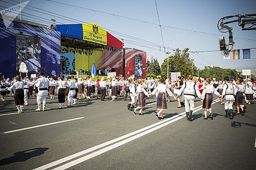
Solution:
M 219 99 L 214 100 L 214 101 L 212 102 L 212 104 L 214 104 L 214 103 L 216 103 L 216 102 L 219 102 Z M 201 107 L 202 107 L 202 105 L 196 107 L 195 110 L 194 110 L 194 112 L 197 112 L 197 111 L 201 110 L 201 109 L 202 109 Z M 129 134 L 125 135 L 125 136 L 120 136 L 120 137 L 118 137 L 118 138 L 112 139 L 112 140 L 110 140 L 110 141 L 108 141 L 108 142 L 105 142 L 105 143 L 102 143 L 102 144 L 100 144 L 100 145 L 94 146 L 94 147 L 92 147 L 92 148 L 86 149 L 86 150 L 81 151 L 81 152 L 79 152 L 79 153 L 74 153 L 74 154 L 72 154 L 72 155 L 70 155 L 70 156 L 67 156 L 67 157 L 64 157 L 64 158 L 62 158 L 62 159 L 56 160 L 56 161 L 54 161 L 54 162 L 51 162 L 51 163 L 49 163 L 49 164 L 43 165 L 43 166 L 38 167 L 38 168 L 36 168 L 36 169 L 34 169 L 34 170 L 46 170 L 46 169 L 49 169 L 49 168 L 54 167 L 54 166 L 56 166 L 56 165 L 59 165 L 59 164 L 61 164 L 61 163 L 67 162 L 67 161 L 69 161 L 69 160 L 71 160 L 71 159 L 74 159 L 74 158 L 76 158 L 76 157 L 78 157 L 78 156 L 81 156 L 81 155 L 83 155 L 83 154 L 90 153 L 90 152 L 92 152 L 92 151 L 95 151 L 95 150 L 100 149 L 100 148 L 102 148 L 102 147 L 105 147 L 105 146 L 107 146 L 107 145 L 110 145 L 110 144 L 112 144 L 112 143 L 115 143 L 115 142 L 117 142 L 117 141 L 120 141 L 120 140 L 122 140 L 122 139 L 125 139 L 125 138 L 127 138 L 127 137 L 129 137 L 129 136 L 133 136 L 133 135 L 138 134 L 138 133 L 140 133 L 140 132 L 143 132 L 143 131 L 145 131 L 145 130 L 147 130 L 147 129 L 150 129 L 150 128 L 154 127 L 154 126 L 157 126 L 157 125 L 162 124 L 162 125 L 160 125 L 160 126 L 155 127 L 156 129 L 155 129 L 155 128 L 152 128 L 152 129 L 154 129 L 154 130 L 150 129 L 150 130 L 147 130 L 147 131 L 141 133 L 141 134 L 146 135 L 146 134 L 148 134 L 148 133 L 150 133 L 150 132 L 153 132 L 153 131 L 155 131 L 155 130 L 161 128 L 161 127 L 164 127 L 164 126 L 166 126 L 166 125 L 168 125 L 168 124 L 170 124 L 170 123 L 172 123 L 172 122 L 174 122 L 174 121 L 177 121 L 177 120 L 179 120 L 179 119 L 184 118 L 184 117 L 185 117 L 185 116 L 184 116 L 185 113 L 186 113 L 186 112 L 183 112 L 183 113 L 178 114 L 178 115 L 175 115 L 175 116 L 173 116 L 173 117 L 171 117 L 171 118 L 164 119 L 164 120 L 162 120 L 162 121 L 159 121 L 159 122 L 157 122 L 157 123 L 154 123 L 154 124 L 152 124 L 152 125 L 149 125 L 149 126 L 147 126 L 147 127 L 145 127 L 145 128 L 142 128 L 142 129 L 139 129 L 139 130 L 134 131 L 134 132 L 132 132 L 132 133 L 129 133 Z M 175 119 L 175 118 L 177 118 L 177 119 Z M 166 123 L 165 123 L 165 122 L 166 122 Z M 159 127 L 159 128 L 158 128 L 158 127 Z M 148 133 L 146 133 L 146 132 L 148 132 Z M 144 135 L 141 135 L 141 134 L 136 135 L 136 136 L 137 136 L 136 138 L 141 137 L 141 136 L 144 136 Z M 77 160 L 80 160 L 80 162 L 77 161 L 77 160 L 75 160 L 76 162 L 72 161 L 72 162 L 70 162 L 71 164 L 70 164 L 70 163 L 67 163 L 67 164 L 63 165 L 65 168 L 64 168 L 63 166 L 61 166 L 62 169 L 61 169 L 60 167 L 57 167 L 57 168 L 60 168 L 59 170 L 63 170 L 63 169 L 67 169 L 66 167 L 68 167 L 68 166 L 72 167 L 72 166 L 74 166 L 74 165 L 76 165 L 76 164 L 79 164 L 79 163 L 85 161 L 85 160 L 88 160 L 88 159 L 90 159 L 90 158 L 92 158 L 92 157 L 95 157 L 95 156 L 97 156 L 97 155 L 99 155 L 99 154 L 101 154 L 101 153 L 105 153 L 105 152 L 107 152 L 107 151 L 110 151 L 111 149 L 114 149 L 114 148 L 116 148 L 116 147 L 118 147 L 118 146 L 121 146 L 121 145 L 123 145 L 123 144 L 125 144 L 125 143 L 128 143 L 128 142 L 131 141 L 131 140 L 136 139 L 136 138 L 134 138 L 134 137 L 135 137 L 135 136 L 130 137 L 130 138 L 126 139 L 126 140 L 123 140 L 123 141 L 118 142 L 118 143 L 116 143 L 116 144 L 113 144 L 113 145 L 111 145 L 111 146 L 109 146 L 109 147 L 106 147 L 106 148 L 104 148 L 104 149 L 101 149 L 101 150 L 99 150 L 99 151 L 97 151 L 97 152 L 91 153 L 91 154 L 89 154 L 89 155 L 86 155 L 86 156 L 84 156 L 84 157 L 81 157 L 80 159 L 77 159 Z M 124 142 L 124 141 L 126 141 L 126 142 Z M 117 144 L 119 144 L 119 145 L 117 145 Z M 57 168 L 56 168 L 56 170 L 57 170 Z M 55 170 L 55 169 L 54 169 L 54 170 Z

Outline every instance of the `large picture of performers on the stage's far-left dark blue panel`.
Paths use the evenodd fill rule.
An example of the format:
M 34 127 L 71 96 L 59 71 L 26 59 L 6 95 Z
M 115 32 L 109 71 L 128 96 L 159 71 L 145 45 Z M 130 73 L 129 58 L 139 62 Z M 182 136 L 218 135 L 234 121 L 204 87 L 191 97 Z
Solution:
M 40 72 L 41 38 L 16 34 L 16 72 L 19 72 L 20 62 L 27 63 L 28 73 Z

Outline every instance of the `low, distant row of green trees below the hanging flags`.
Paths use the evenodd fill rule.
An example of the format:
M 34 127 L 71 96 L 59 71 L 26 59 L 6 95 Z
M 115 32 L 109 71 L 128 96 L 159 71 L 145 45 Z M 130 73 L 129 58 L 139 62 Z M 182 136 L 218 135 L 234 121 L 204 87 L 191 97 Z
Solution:
M 222 80 L 223 77 L 229 77 L 231 76 L 232 79 L 237 79 L 238 72 L 235 69 L 229 69 L 229 68 L 219 68 L 219 67 L 213 67 L 210 66 L 204 67 L 204 69 L 199 70 L 199 77 L 202 78 L 216 78 L 216 80 Z

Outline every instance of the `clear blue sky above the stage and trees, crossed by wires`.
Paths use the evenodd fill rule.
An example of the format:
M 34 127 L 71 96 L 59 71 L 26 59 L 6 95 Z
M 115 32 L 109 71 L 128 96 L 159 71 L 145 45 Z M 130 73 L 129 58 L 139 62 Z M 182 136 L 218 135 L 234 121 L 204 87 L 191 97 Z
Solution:
M 10 0 L 4 1 L 16 3 Z M 5 3 L 4 1 L 0 2 L 2 6 L 13 6 L 12 4 Z M 15 1 L 18 2 L 19 0 Z M 158 24 L 155 0 L 55 1 Z M 86 9 L 74 8 L 72 6 L 60 5 L 48 0 L 30 0 L 28 5 L 71 17 L 80 20 L 83 23 L 96 23 L 102 28 L 107 28 L 115 32 L 127 34 L 149 42 L 163 45 L 160 28 L 157 25 L 100 14 Z M 236 14 L 256 13 L 255 0 L 157 0 L 157 6 L 162 25 L 220 35 L 221 33 L 217 28 L 217 23 L 221 17 Z M 0 9 L 3 8 L 0 7 Z M 47 18 L 49 20 L 48 22 L 50 22 L 51 18 L 54 18 L 57 22 L 64 24 L 82 23 L 79 21 L 67 21 L 65 19 L 31 11 L 26 8 L 23 9 L 23 12 L 38 17 Z M 28 17 L 24 16 L 23 18 L 26 19 Z M 37 19 L 33 18 L 33 20 Z M 239 37 L 234 38 L 234 49 L 256 48 L 256 31 L 242 31 L 241 27 L 238 26 L 238 23 L 229 24 L 229 26 L 233 27 L 233 36 Z M 201 34 L 168 27 L 163 28 L 164 29 L 162 32 L 166 47 L 175 49 L 183 49 L 184 47 L 188 47 L 191 51 L 219 50 L 219 35 Z M 111 31 L 109 32 L 111 33 Z M 154 58 L 158 59 L 160 65 L 166 57 L 164 52 L 131 44 L 127 41 L 127 39 L 129 39 L 128 37 L 114 33 L 111 34 L 120 39 L 124 38 L 126 47 L 146 51 L 147 58 L 150 58 L 152 55 Z M 228 33 L 223 34 L 223 36 L 228 39 Z M 159 49 L 159 47 L 154 48 Z M 173 51 L 170 52 L 172 53 Z M 242 52 L 240 55 L 240 60 L 233 60 L 232 54 L 230 60 L 223 60 L 223 56 L 221 55 L 220 51 L 201 52 L 199 54 L 190 53 L 190 57 L 195 60 L 196 67 L 200 69 L 204 68 L 204 66 L 215 65 L 221 68 L 236 68 L 237 70 L 256 70 L 256 49 L 251 50 L 251 59 L 242 59 Z M 204 58 L 204 60 L 202 58 Z

